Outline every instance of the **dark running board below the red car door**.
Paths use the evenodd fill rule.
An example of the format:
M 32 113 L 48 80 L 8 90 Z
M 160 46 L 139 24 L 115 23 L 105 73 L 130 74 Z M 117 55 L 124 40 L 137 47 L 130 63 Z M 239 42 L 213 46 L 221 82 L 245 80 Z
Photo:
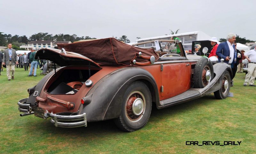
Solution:
M 160 101 L 161 106 L 159 108 L 165 108 L 168 106 L 184 103 L 200 97 L 200 92 L 197 90 L 188 90 L 180 95 Z

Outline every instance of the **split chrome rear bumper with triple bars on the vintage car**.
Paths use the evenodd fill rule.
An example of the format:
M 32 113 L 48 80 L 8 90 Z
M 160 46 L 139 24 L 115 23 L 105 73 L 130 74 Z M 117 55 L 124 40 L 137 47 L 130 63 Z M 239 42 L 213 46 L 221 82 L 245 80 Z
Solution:
M 20 116 L 26 116 L 30 114 L 35 114 L 35 107 L 31 107 L 30 104 L 26 104 L 28 98 L 24 98 L 18 102 L 19 111 L 24 112 Z M 51 117 L 50 120 L 52 124 L 56 127 L 87 127 L 86 113 L 77 115 L 77 112 L 60 112 L 53 114 L 52 112 L 44 111 L 44 116 L 40 118 L 47 119 Z

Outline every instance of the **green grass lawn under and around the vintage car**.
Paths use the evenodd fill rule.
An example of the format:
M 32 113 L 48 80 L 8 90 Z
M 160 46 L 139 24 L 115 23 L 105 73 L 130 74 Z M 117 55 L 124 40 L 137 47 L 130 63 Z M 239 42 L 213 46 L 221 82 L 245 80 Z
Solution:
M 112 120 L 87 127 L 54 127 L 49 119 L 20 117 L 17 102 L 28 97 L 44 75 L 28 77 L 15 68 L 8 81 L 0 76 L 0 153 L 256 153 L 256 88 L 244 87 L 244 73 L 236 74 L 234 97 L 217 100 L 213 94 L 157 110 L 138 131 L 120 131 Z M 241 145 L 186 145 L 186 141 L 242 141 Z

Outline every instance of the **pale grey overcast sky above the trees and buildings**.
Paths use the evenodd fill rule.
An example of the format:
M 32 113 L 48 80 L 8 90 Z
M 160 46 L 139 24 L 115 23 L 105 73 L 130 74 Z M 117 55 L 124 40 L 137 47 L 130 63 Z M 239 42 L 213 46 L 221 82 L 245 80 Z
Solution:
M 0 14 L 0 32 L 27 37 L 126 35 L 134 42 L 180 29 L 218 39 L 232 32 L 256 41 L 255 0 L 0 0 Z

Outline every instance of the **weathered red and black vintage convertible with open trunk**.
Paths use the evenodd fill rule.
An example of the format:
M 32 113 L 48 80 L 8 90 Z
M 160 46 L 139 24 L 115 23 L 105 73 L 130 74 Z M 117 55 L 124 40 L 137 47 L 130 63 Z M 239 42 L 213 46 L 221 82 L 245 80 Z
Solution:
M 128 132 L 148 122 L 151 107 L 162 109 L 214 93 L 228 96 L 232 72 L 226 63 L 186 55 L 179 40 L 156 40 L 142 49 L 106 38 L 41 49 L 36 58 L 61 67 L 28 89 L 18 102 L 21 116 L 35 114 L 56 127 L 86 127 L 87 122 L 114 119 Z M 175 49 L 163 51 L 166 43 Z

